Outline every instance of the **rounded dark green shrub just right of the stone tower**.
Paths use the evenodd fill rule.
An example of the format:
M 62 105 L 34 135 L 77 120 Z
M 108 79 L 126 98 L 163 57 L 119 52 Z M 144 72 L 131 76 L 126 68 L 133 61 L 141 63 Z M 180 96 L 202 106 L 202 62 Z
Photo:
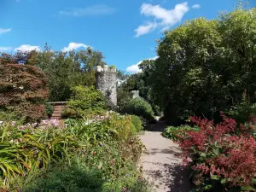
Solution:
M 131 99 L 131 101 L 123 109 L 123 113 L 136 114 L 145 119 L 154 119 L 154 112 L 151 105 L 143 98 Z

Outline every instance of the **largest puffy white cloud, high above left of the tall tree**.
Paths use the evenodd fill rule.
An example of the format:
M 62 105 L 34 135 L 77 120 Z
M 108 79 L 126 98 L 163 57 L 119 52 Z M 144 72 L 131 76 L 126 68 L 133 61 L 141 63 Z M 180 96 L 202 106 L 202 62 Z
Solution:
M 148 17 L 154 17 L 154 20 L 157 20 L 157 22 L 154 21 L 153 23 L 148 21 L 147 25 L 138 26 L 137 29 L 135 29 L 135 37 L 139 37 L 148 32 L 151 32 L 157 26 L 161 27 L 162 29 L 174 26 L 177 24 L 177 22 L 182 20 L 183 15 L 185 15 L 188 11 L 189 6 L 187 2 L 177 4 L 174 9 L 164 9 L 160 5 L 143 3 L 141 7 L 141 14 Z

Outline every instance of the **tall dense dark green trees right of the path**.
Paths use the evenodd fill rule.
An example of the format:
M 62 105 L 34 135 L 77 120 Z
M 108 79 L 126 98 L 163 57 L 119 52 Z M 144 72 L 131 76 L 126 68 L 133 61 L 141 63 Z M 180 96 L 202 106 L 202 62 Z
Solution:
M 212 119 L 243 98 L 256 102 L 255 27 L 256 9 L 239 8 L 218 20 L 197 18 L 165 33 L 159 57 L 143 70 L 167 119 Z

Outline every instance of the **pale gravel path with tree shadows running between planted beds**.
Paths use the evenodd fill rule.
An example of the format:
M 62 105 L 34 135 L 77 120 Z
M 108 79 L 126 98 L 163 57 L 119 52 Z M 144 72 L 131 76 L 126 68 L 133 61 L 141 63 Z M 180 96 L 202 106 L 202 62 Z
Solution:
M 158 122 L 140 136 L 147 148 L 142 157 L 144 176 L 154 183 L 157 192 L 189 192 L 188 173 L 179 166 L 182 159 L 177 157 L 181 150 L 161 136 L 165 127 L 164 122 Z

